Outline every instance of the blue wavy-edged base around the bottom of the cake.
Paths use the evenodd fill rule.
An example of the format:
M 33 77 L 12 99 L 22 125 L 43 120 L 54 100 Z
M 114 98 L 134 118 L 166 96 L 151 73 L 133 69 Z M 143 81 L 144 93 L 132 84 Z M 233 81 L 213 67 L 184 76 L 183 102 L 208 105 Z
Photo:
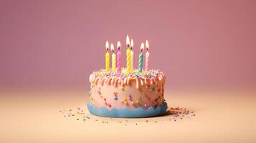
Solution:
M 149 107 L 148 109 L 143 109 L 139 107 L 137 109 L 106 109 L 105 107 L 95 107 L 91 103 L 87 103 L 87 107 L 91 114 L 101 116 L 101 117 L 117 117 L 117 118 L 141 118 L 141 117 L 154 117 L 161 114 L 166 114 L 167 103 L 164 102 L 161 106 L 156 108 Z

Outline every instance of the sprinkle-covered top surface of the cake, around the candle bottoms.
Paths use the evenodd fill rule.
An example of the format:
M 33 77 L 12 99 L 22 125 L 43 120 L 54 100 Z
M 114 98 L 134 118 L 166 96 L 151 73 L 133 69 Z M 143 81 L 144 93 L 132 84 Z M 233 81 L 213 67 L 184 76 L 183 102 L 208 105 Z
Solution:
M 133 69 L 130 74 L 126 74 L 126 69 L 122 68 L 120 76 L 116 71 L 106 71 L 105 69 L 100 69 L 98 71 L 93 71 L 93 74 L 91 76 L 93 77 L 120 77 L 120 78 L 138 78 L 138 79 L 153 79 L 158 74 L 163 74 L 162 71 L 159 69 L 151 69 L 148 71 L 141 71 L 139 72 L 138 69 Z

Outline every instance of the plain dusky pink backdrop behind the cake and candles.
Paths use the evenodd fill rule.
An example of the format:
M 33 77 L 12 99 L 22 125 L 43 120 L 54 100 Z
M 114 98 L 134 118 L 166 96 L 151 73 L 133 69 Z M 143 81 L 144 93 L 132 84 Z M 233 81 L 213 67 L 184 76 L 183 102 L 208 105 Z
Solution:
M 256 85 L 256 1 L 0 1 L 1 88 L 84 87 L 105 41 L 148 39 L 167 86 Z

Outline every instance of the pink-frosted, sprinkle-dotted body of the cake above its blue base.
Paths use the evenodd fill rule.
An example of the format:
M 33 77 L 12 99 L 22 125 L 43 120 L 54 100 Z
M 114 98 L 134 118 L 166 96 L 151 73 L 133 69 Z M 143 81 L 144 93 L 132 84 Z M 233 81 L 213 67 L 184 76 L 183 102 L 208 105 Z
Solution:
M 90 104 L 105 109 L 148 109 L 165 102 L 165 76 L 158 69 L 120 75 L 104 69 L 90 75 Z

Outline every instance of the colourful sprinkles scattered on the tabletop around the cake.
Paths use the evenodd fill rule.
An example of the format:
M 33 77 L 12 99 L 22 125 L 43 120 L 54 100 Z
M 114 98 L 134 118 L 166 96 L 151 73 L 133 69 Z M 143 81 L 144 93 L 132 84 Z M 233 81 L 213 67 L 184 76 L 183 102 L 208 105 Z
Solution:
M 62 117 L 68 119 L 74 119 L 77 122 L 84 122 L 86 124 L 90 124 L 90 122 L 95 122 L 97 124 L 115 124 L 118 123 L 120 125 L 135 125 L 138 126 L 138 123 L 142 124 L 158 124 L 160 122 L 171 122 L 171 123 L 179 123 L 178 120 L 190 119 L 191 117 L 195 117 L 196 114 L 194 111 L 191 111 L 186 108 L 180 107 L 171 107 L 167 109 L 165 115 L 160 117 L 151 117 L 151 118 L 136 118 L 136 119 L 113 119 L 112 117 L 96 117 L 91 115 L 89 112 L 86 112 L 86 109 L 82 109 L 81 107 L 77 107 L 76 109 L 68 109 L 68 110 L 59 110 L 59 113 L 62 114 Z M 86 122 L 85 122 L 86 121 Z

